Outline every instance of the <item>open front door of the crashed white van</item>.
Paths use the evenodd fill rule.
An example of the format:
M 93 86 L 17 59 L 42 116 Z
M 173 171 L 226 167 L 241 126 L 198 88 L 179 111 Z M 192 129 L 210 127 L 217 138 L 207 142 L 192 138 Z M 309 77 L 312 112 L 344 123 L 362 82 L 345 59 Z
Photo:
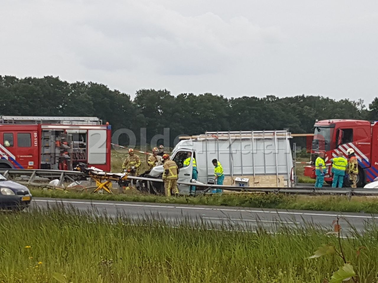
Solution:
M 189 166 L 184 167 L 184 161 L 187 157 L 188 152 L 192 153 L 191 161 Z M 180 149 L 176 152 L 173 160 L 176 162 L 178 166 L 178 181 L 181 182 L 188 182 L 192 180 L 192 171 L 193 171 L 193 151 L 191 149 Z M 181 195 L 189 195 L 190 194 L 190 186 L 189 185 L 178 185 L 178 191 Z

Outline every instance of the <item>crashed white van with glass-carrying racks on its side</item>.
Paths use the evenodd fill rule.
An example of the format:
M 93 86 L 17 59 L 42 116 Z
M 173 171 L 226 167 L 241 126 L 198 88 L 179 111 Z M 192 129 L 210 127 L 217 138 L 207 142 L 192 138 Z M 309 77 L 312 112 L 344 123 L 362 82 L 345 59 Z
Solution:
M 235 177 L 243 176 L 252 181 L 249 186 L 253 187 L 258 180 L 262 181 L 262 176 L 266 176 L 270 179 L 266 186 L 291 187 L 293 158 L 290 138 L 287 131 L 206 132 L 181 140 L 170 159 L 180 169 L 178 181 L 191 181 L 194 157 L 201 183 L 210 183 L 214 178 L 212 160 L 217 159 L 224 170 L 223 185 L 233 186 Z M 189 166 L 183 167 L 188 152 L 192 152 L 192 160 Z M 149 175 L 159 177 L 162 173 L 163 166 L 156 166 Z M 262 186 L 263 183 L 259 184 L 259 187 Z M 189 185 L 179 185 L 179 191 L 180 194 L 189 194 Z

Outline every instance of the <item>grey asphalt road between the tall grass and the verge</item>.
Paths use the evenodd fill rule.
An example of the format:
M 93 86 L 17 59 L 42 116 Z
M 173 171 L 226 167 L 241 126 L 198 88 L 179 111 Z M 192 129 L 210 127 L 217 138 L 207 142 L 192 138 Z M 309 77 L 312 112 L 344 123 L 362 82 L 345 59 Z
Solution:
M 201 205 L 171 205 L 157 203 L 134 203 L 123 201 L 90 201 L 54 198 L 34 198 L 33 206 L 46 209 L 56 205 L 65 208 L 74 207 L 79 211 L 92 211 L 97 215 L 109 217 L 129 217 L 163 219 L 178 224 L 182 221 L 188 223 L 205 223 L 209 228 L 231 228 L 242 230 L 256 230 L 263 226 L 274 232 L 277 227 L 286 225 L 290 227 L 304 226 L 312 223 L 332 231 L 332 222 L 338 215 L 342 216 L 340 224 L 344 235 L 348 235 L 350 225 L 358 231 L 364 230 L 364 225 L 373 224 L 375 216 L 364 213 L 337 213 L 322 211 L 288 211 L 282 209 L 239 208 L 225 206 Z

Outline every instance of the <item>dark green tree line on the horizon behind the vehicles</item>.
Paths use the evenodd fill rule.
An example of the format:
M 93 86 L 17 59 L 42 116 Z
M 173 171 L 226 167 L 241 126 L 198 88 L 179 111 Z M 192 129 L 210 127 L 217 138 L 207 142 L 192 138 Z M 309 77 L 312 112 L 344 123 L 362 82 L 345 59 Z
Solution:
M 282 130 L 309 133 L 316 119 L 378 120 L 378 97 L 366 108 L 364 101 L 297 95 L 278 98 L 226 98 L 222 95 L 182 93 L 166 89 L 140 89 L 134 99 L 100 83 L 68 83 L 59 77 L 0 75 L 0 115 L 95 116 L 117 129 L 130 129 L 139 141 L 140 128 L 147 141 L 170 129 L 170 146 L 180 134 L 205 131 Z M 127 144 L 121 135 L 119 144 Z

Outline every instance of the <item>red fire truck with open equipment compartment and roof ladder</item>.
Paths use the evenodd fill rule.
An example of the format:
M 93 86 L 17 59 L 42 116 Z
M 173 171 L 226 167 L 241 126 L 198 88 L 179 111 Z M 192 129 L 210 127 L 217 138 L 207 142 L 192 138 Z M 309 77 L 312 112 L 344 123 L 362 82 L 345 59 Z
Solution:
M 110 171 L 111 136 L 96 117 L 0 116 L 0 168 Z

